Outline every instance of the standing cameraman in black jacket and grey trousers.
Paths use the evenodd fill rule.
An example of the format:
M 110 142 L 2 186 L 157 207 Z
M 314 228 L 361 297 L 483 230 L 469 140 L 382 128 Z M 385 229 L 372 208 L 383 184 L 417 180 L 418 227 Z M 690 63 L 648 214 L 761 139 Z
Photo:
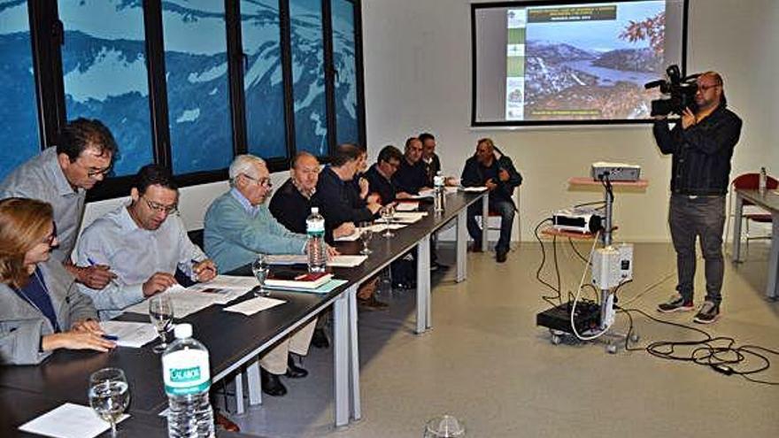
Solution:
M 695 322 L 709 324 L 720 315 L 722 300 L 722 229 L 728 192 L 730 158 L 741 134 L 741 119 L 725 108 L 719 73 L 698 76 L 693 112 L 685 108 L 673 129 L 665 116 L 656 118 L 652 132 L 663 154 L 673 155 L 668 224 L 676 250 L 677 294 L 658 311 L 691 311 L 695 278 L 695 240 L 706 260 L 706 301 Z

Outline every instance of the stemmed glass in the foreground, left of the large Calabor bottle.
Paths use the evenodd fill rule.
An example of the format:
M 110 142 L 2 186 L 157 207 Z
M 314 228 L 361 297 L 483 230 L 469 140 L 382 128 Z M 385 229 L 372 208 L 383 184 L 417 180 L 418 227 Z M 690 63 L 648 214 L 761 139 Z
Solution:
M 130 403 L 130 389 L 125 372 L 119 368 L 103 368 L 89 376 L 89 405 L 101 419 L 111 423 L 111 436 L 116 437 L 116 421 Z

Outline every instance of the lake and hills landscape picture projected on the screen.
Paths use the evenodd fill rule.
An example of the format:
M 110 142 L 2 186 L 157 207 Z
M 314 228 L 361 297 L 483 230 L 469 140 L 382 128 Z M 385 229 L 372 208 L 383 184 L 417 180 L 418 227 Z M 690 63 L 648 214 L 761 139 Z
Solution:
M 664 1 L 528 8 L 526 26 L 525 119 L 649 117 L 656 93 L 644 83 L 665 67 Z

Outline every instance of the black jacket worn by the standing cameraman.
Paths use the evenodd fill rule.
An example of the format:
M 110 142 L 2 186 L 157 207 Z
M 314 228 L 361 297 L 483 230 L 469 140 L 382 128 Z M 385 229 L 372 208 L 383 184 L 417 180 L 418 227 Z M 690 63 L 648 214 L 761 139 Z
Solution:
M 728 193 L 730 157 L 741 135 L 741 119 L 721 104 L 697 124 L 682 129 L 682 121 L 668 129 L 667 120 L 652 128 L 660 152 L 673 154 L 671 193 L 725 195 Z

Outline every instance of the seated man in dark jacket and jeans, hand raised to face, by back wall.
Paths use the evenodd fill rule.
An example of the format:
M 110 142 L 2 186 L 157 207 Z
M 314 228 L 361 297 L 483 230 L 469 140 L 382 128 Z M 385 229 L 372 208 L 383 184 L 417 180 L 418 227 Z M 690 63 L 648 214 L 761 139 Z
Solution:
M 496 155 L 495 145 L 489 138 L 482 138 L 476 143 L 476 153 L 468 158 L 462 173 L 464 187 L 487 187 L 490 191 L 490 211 L 500 215 L 500 238 L 495 245 L 497 263 L 504 263 L 511 243 L 511 230 L 514 212 L 517 210 L 513 202 L 514 188 L 522 183 L 522 176 L 514 168 L 511 158 L 499 150 Z M 482 229 L 476 224 L 476 216 L 482 214 L 480 203 L 468 207 L 468 234 L 474 239 L 474 251 L 482 249 Z

